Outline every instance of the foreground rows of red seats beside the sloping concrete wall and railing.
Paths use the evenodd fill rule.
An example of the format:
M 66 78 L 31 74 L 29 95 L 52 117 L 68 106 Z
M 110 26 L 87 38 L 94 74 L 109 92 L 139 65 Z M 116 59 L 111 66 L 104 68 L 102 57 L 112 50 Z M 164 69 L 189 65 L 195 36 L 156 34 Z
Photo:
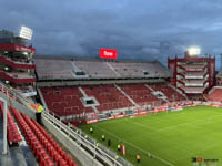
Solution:
M 77 166 L 60 145 L 36 121 L 30 120 L 13 107 L 11 107 L 11 111 L 41 166 L 52 166 L 54 164 L 58 166 Z

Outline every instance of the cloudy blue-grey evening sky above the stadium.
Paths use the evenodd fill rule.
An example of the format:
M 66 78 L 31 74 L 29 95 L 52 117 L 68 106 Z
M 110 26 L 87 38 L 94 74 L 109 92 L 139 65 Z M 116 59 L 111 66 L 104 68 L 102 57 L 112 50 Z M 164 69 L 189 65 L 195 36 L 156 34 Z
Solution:
M 1 0 L 0 29 L 33 29 L 37 54 L 158 59 L 222 53 L 221 0 Z M 219 62 L 219 61 L 218 61 Z M 218 63 L 219 66 L 219 63 Z

